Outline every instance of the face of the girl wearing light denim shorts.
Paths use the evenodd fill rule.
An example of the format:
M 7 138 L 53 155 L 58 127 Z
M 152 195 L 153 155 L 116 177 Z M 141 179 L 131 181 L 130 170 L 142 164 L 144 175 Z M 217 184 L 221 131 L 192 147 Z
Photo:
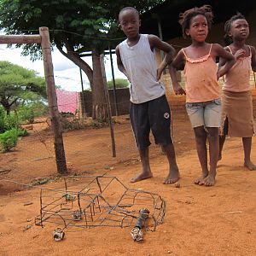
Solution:
M 186 34 L 197 42 L 205 42 L 208 35 L 207 18 L 204 15 L 196 15 L 190 20 L 189 29 Z

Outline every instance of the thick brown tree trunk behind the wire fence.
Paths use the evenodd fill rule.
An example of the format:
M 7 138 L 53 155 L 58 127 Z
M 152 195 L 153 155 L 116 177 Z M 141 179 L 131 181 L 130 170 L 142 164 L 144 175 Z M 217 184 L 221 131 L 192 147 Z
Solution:
M 108 109 L 104 94 L 100 52 L 97 49 L 92 50 L 92 66 L 92 119 L 106 120 L 108 118 Z

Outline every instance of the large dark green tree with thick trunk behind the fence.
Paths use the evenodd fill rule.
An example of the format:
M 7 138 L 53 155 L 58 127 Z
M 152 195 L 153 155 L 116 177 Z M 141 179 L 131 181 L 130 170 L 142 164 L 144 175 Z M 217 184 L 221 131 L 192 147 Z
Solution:
M 100 54 L 124 38 L 117 26 L 119 10 L 134 6 L 139 12 L 151 9 L 156 0 L 49 0 L 0 1 L 0 28 L 7 34 L 36 34 L 38 27 L 48 26 L 50 38 L 62 55 L 86 73 L 92 91 L 93 118 L 104 119 L 105 104 Z M 112 39 L 110 39 L 112 38 Z M 16 45 L 20 47 L 21 45 Z M 23 54 L 40 58 L 40 45 L 23 46 Z M 91 51 L 92 68 L 82 58 Z

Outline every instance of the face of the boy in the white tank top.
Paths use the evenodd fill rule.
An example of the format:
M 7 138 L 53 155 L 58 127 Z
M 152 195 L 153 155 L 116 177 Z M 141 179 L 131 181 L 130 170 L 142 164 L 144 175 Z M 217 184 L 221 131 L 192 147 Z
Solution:
M 119 26 L 127 38 L 136 38 L 141 26 L 141 20 L 135 11 L 127 9 L 119 15 Z

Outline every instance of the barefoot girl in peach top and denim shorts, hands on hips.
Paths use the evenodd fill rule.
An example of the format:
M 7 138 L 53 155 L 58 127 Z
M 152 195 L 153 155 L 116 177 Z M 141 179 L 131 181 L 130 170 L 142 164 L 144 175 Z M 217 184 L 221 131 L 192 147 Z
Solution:
M 186 93 L 186 108 L 195 132 L 197 154 L 202 175 L 196 184 L 212 186 L 215 183 L 218 162 L 218 129 L 221 121 L 221 101 L 218 78 L 223 76 L 235 63 L 235 58 L 219 44 L 207 44 L 206 38 L 212 25 L 212 8 L 204 5 L 185 11 L 179 23 L 183 37 L 191 38 L 189 47 L 181 49 L 169 66 L 172 86 L 176 94 Z M 226 63 L 219 68 L 216 57 Z M 186 92 L 178 84 L 176 68 L 185 61 L 184 76 Z M 210 168 L 207 166 L 207 139 L 209 142 Z

